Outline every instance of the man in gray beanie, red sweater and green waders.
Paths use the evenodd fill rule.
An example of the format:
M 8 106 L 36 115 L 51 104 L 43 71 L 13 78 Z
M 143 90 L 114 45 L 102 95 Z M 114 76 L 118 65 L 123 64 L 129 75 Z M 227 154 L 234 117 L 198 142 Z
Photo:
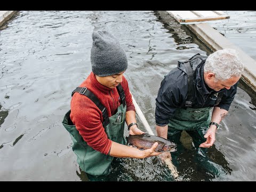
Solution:
M 93 31 L 92 39 L 92 72 L 72 92 L 71 109 L 62 124 L 73 140 L 77 163 L 89 180 L 113 181 L 109 173 L 116 157 L 146 158 L 162 152 L 155 152 L 157 143 L 143 151 L 125 145 L 125 122 L 129 134 L 144 133 L 137 126 L 124 77 L 126 54 L 108 31 Z

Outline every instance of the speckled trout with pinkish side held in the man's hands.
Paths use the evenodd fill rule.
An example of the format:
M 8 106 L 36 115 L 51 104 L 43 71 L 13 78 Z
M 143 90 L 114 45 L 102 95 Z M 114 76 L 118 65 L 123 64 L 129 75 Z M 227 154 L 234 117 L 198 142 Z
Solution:
M 140 150 L 150 149 L 155 142 L 158 142 L 156 152 L 174 152 L 177 151 L 177 145 L 168 139 L 143 133 L 139 135 L 129 135 L 126 137 L 127 146 L 137 147 Z

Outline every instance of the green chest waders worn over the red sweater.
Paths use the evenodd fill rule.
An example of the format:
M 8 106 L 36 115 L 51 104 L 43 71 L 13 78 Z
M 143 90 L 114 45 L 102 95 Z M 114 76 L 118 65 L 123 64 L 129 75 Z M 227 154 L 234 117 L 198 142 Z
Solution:
M 105 116 L 103 127 L 105 129 L 105 132 L 107 133 L 108 139 L 125 145 L 126 140 L 124 137 L 124 123 L 125 123 L 125 114 L 126 114 L 126 103 L 125 103 L 125 95 L 124 95 L 123 88 L 121 85 L 120 86 L 119 85 L 117 89 L 118 89 L 120 98 L 122 100 L 122 103 L 118 107 L 116 114 L 114 114 L 113 116 L 106 117 L 106 115 L 103 115 L 103 117 Z M 77 87 L 78 91 L 74 91 L 74 92 L 80 92 L 81 94 L 83 92 L 84 93 L 89 92 L 90 94 L 92 93 L 87 89 L 86 91 L 81 90 L 81 88 L 83 87 Z M 97 100 L 97 98 L 96 99 L 93 98 L 92 100 L 94 100 L 94 103 L 95 103 L 95 100 Z M 97 103 L 97 106 L 99 106 L 99 100 L 96 103 Z M 99 108 L 102 109 L 103 113 L 106 111 L 106 108 L 102 107 L 102 104 L 101 104 L 101 107 Z M 113 161 L 114 157 L 110 155 L 102 154 L 99 151 L 94 150 L 93 148 L 87 145 L 87 143 L 83 140 L 82 136 L 79 134 L 75 125 L 71 121 L 70 112 L 71 110 L 69 110 L 66 113 L 62 121 L 62 124 L 66 128 L 66 130 L 69 132 L 71 139 L 73 140 L 72 149 L 74 153 L 77 155 L 77 163 L 79 164 L 79 166 L 84 172 L 89 173 L 91 175 L 94 175 L 94 176 L 108 175 L 110 172 L 110 164 Z M 104 113 L 104 114 L 107 114 L 107 113 Z

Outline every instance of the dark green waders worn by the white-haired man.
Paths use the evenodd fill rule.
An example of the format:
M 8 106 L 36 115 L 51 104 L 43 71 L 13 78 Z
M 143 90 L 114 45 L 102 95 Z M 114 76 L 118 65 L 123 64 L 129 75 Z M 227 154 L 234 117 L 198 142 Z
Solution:
M 193 109 L 187 107 L 186 109 L 178 108 L 175 111 L 173 118 L 169 120 L 167 138 L 170 141 L 177 143 L 177 151 L 171 153 L 172 161 L 175 166 L 179 166 L 178 156 L 185 149 L 180 142 L 181 132 L 186 131 L 193 139 L 194 147 L 196 149 L 195 161 L 202 166 L 206 172 L 212 175 L 219 175 L 219 168 L 216 168 L 207 157 L 207 148 L 201 148 L 199 145 L 206 141 L 204 135 L 209 129 L 211 122 L 210 116 L 211 107 Z

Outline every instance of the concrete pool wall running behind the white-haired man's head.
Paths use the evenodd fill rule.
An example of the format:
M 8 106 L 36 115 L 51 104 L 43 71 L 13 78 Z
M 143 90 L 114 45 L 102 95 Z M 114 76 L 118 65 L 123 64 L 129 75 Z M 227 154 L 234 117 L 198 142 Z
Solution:
M 207 23 L 186 25 L 212 51 L 235 49 L 245 65 L 242 80 L 256 92 L 256 61 Z

